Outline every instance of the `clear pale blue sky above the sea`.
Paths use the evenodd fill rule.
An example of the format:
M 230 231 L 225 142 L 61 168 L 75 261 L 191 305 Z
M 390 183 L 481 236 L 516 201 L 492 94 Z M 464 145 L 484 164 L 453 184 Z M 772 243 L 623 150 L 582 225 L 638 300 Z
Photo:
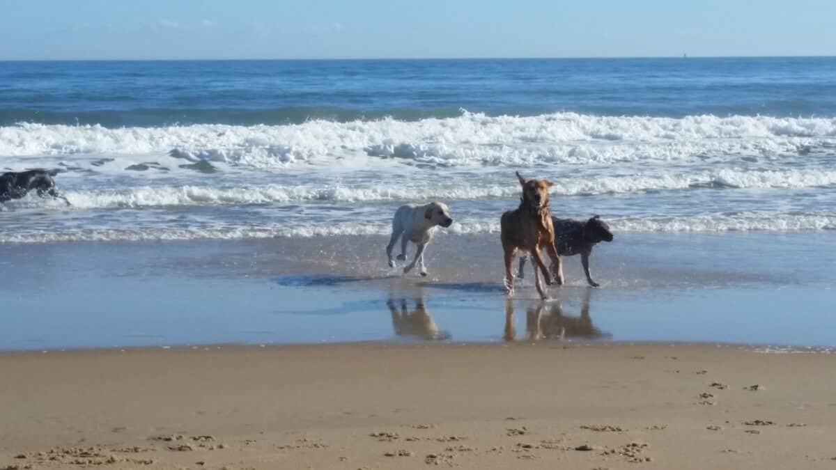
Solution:
M 836 54 L 834 0 L 0 0 L 0 59 Z

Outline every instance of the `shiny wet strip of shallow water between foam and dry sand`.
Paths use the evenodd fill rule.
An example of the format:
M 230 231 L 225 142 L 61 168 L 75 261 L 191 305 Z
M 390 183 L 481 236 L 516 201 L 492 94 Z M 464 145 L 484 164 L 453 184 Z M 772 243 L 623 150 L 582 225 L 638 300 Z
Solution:
M 616 237 L 593 255 L 601 288 L 585 287 L 579 258 L 567 258 L 568 285 L 551 287 L 552 300 L 541 304 L 530 278 L 517 287 L 511 329 L 494 236 L 441 234 L 429 248 L 429 278 L 386 268 L 378 237 L 2 245 L 0 349 L 532 333 L 836 346 L 836 250 L 827 233 Z

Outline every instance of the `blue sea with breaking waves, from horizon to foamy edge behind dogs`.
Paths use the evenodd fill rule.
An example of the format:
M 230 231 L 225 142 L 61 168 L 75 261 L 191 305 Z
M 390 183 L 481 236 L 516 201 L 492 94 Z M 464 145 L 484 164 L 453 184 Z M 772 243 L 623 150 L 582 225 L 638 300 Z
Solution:
M 618 231 L 828 230 L 834 157 L 836 58 L 0 63 L 0 170 L 72 202 L 0 243 L 493 232 L 517 170 Z

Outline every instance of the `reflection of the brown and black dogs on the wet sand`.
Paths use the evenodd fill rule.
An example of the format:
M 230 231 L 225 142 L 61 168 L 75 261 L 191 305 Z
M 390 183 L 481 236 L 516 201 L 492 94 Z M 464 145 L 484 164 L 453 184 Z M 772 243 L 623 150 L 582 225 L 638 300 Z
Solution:
M 580 316 L 573 317 L 563 314 L 563 306 L 559 301 L 548 305 L 548 313 L 543 314 L 547 304 L 543 301 L 534 304 L 526 310 L 526 333 L 524 340 L 563 340 L 564 338 L 584 338 L 596 340 L 607 337 L 592 323 L 589 316 L 589 299 L 593 289 L 584 289 Z M 502 338 L 506 341 L 517 340 L 517 327 L 514 324 L 514 303 L 512 299 L 505 301 L 505 330 Z

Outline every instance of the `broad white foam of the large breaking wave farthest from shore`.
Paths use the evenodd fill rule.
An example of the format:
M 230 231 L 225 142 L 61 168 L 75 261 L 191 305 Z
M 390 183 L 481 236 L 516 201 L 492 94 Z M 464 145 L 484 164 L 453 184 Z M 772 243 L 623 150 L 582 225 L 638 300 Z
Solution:
M 343 165 L 352 157 L 435 166 L 613 163 L 798 155 L 836 146 L 836 119 L 714 115 L 681 119 L 557 113 L 298 125 L 0 127 L 0 156 L 161 155 L 234 166 Z M 2 161 L 0 161 L 2 162 Z

